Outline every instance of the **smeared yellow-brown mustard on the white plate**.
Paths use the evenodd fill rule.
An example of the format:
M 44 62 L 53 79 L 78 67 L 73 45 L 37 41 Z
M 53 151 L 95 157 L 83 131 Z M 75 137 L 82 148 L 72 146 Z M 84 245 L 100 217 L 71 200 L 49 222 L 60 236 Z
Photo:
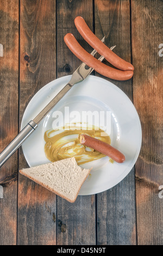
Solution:
M 81 133 L 110 144 L 110 137 L 95 126 L 92 126 L 92 130 L 81 130 L 79 127 L 70 130 L 65 130 L 65 127 L 62 127 L 62 130 L 48 130 L 44 135 L 47 159 L 55 162 L 74 156 L 78 164 L 84 164 L 104 157 L 105 155 L 97 150 L 80 144 L 78 137 Z

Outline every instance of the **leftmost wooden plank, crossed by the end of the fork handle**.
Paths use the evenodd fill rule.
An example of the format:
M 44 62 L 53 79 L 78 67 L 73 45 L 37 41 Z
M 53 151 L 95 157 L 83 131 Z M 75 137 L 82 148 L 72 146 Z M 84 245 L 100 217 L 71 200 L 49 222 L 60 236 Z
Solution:
M 2 151 L 18 133 L 18 0 L 0 2 L 0 136 Z M 1 167 L 0 244 L 16 245 L 17 153 Z M 1 187 L 1 189 L 2 189 Z

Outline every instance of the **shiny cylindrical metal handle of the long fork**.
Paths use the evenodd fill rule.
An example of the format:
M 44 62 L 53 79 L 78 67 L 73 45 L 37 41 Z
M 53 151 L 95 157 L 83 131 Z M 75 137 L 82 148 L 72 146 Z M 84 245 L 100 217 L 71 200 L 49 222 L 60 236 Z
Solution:
M 23 130 L 11 141 L 11 143 L 0 154 L 0 167 L 14 154 L 14 152 L 22 145 L 22 143 L 31 135 L 37 128 L 37 124 L 32 120 Z

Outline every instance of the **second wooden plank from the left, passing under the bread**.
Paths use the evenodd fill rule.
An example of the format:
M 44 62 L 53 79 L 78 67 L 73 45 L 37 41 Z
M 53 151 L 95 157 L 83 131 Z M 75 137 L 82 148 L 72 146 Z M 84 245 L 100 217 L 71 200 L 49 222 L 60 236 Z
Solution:
M 55 1 L 20 2 L 20 122 L 30 99 L 55 79 Z M 20 150 L 19 169 L 26 168 Z M 20 175 L 18 180 L 18 245 L 56 244 L 54 193 Z

